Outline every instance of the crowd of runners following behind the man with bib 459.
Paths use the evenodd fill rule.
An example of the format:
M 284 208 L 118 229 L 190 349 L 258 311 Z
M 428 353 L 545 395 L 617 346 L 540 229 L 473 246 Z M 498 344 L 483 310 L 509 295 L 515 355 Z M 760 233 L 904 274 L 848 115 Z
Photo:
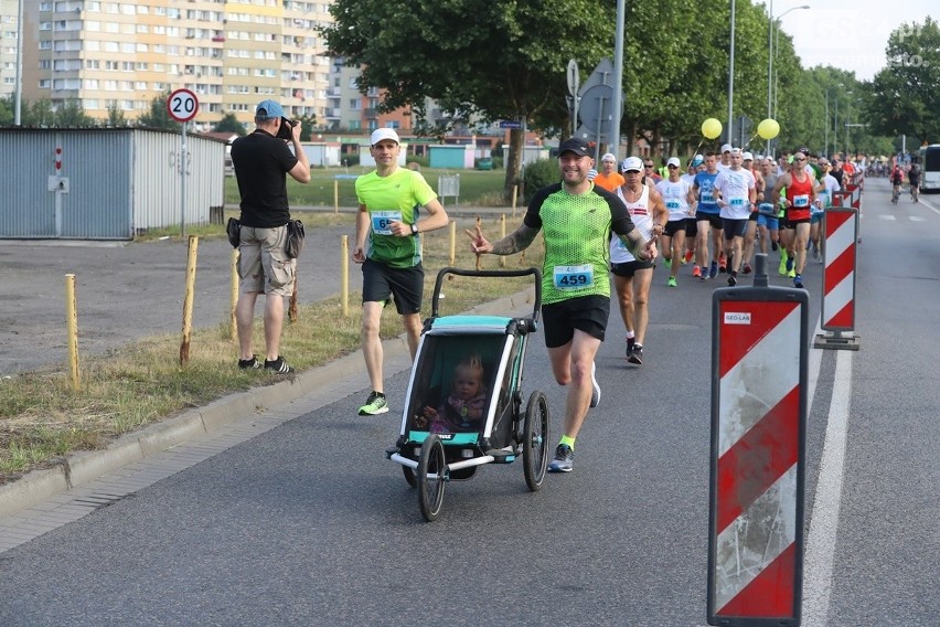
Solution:
M 695 155 L 683 168 L 672 157 L 660 170 L 652 159 L 601 158 L 595 184 L 616 193 L 643 236 L 658 240 L 669 269 L 665 285 L 722 278 L 736 286 L 754 272 L 754 255 L 778 257 L 777 272 L 803 287 L 809 258 L 822 263 L 821 223 L 833 194 L 864 172 L 864 163 L 832 160 L 799 148 L 779 158 L 724 145 Z M 773 258 L 777 262 L 777 258 Z M 627 327 L 627 359 L 643 363 L 647 304 L 653 263 L 634 259 L 612 240 L 611 274 Z M 680 272 L 687 267 L 687 272 Z

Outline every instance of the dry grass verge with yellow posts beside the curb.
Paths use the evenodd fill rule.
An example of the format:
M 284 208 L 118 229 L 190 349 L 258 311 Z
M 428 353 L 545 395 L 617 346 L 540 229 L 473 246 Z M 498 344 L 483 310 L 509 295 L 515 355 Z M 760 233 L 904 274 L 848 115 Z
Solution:
M 351 223 L 353 216 L 325 214 L 311 220 Z M 498 220 L 483 220 L 482 226 L 485 233 L 499 233 Z M 192 234 L 224 236 L 222 226 L 199 229 L 200 233 Z M 515 225 L 508 224 L 506 229 L 511 231 Z M 449 264 L 447 231 L 425 235 L 424 247 L 427 275 L 421 314 L 427 317 L 437 270 Z M 538 266 L 542 254 L 540 238 L 524 255 L 506 257 L 505 267 Z M 482 267 L 495 269 L 499 259 L 485 256 Z M 476 257 L 460 235 L 455 265 L 472 268 L 474 264 Z M 447 298 L 441 314 L 466 311 L 531 285 L 532 277 L 483 279 L 451 275 L 444 290 Z M 298 308 L 297 320 L 285 322 L 281 342 L 293 368 L 309 370 L 359 350 L 360 298 L 360 294 L 350 295 L 349 317 L 342 316 L 339 297 Z M 394 309 L 386 310 L 382 322 L 383 339 L 403 332 Z M 264 337 L 260 318 L 256 320 L 255 337 Z M 279 381 L 263 371 L 238 370 L 237 342 L 228 338 L 227 321 L 193 331 L 185 368 L 179 364 L 179 336 L 146 338 L 107 355 L 84 359 L 78 392 L 71 389 L 65 364 L 0 379 L 0 483 L 60 464 L 71 453 L 104 448 L 122 434 L 227 394 Z

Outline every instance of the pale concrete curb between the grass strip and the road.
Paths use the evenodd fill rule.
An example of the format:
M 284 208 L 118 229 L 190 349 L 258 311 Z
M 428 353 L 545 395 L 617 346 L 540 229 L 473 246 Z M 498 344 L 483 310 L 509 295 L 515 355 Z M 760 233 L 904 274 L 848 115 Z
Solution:
M 525 309 L 533 306 L 534 298 L 534 289 L 528 288 L 476 307 L 469 312 L 525 315 Z M 402 334 L 384 340 L 382 349 L 386 359 L 395 358 L 406 354 L 408 342 Z M 362 372 L 364 368 L 362 351 L 359 350 L 322 366 L 301 372 L 286 381 L 229 394 L 204 407 L 191 410 L 138 432 L 126 434 L 105 449 L 68 455 L 62 466 L 33 470 L 15 481 L 0 486 L 0 518 L 28 509 L 55 495 L 61 495 L 193 437 L 224 428 L 267 407 L 289 403 L 322 390 L 338 379 Z

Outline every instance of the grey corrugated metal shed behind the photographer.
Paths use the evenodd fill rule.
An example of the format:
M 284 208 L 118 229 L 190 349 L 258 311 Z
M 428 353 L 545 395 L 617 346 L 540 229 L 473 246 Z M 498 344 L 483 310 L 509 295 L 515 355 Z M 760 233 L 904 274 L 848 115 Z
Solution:
M 0 238 L 131 240 L 179 226 L 181 135 L 0 129 Z M 225 142 L 186 136 L 185 223 L 222 220 Z

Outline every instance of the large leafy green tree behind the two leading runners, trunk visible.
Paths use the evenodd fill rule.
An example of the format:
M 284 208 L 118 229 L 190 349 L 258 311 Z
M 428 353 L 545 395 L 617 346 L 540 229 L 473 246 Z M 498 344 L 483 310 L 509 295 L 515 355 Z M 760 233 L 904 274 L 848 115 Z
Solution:
M 519 119 L 547 132 L 567 119 L 568 60 L 594 66 L 609 54 L 613 32 L 613 4 L 589 0 L 441 0 L 406 11 L 383 0 L 337 0 L 330 12 L 328 47 L 360 67 L 363 93 L 385 91 L 382 110 L 408 106 L 424 118 L 434 98 L 457 119 Z M 511 134 L 506 198 L 523 138 L 521 129 Z

